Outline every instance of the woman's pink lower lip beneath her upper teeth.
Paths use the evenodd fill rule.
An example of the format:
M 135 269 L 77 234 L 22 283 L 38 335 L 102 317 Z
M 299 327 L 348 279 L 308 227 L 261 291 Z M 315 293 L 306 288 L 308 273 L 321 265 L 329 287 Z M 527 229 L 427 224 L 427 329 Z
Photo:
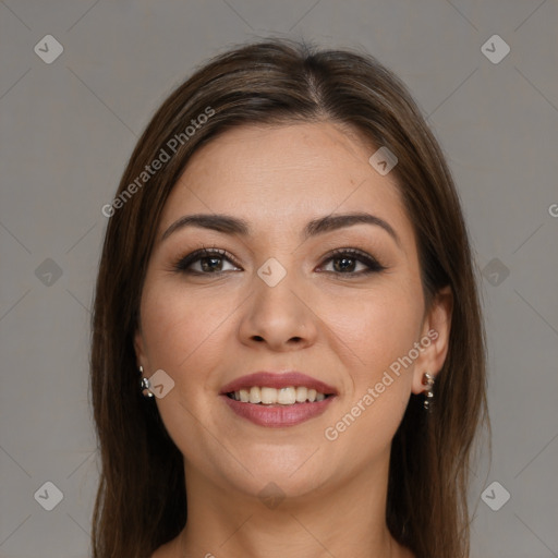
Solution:
M 247 418 L 248 421 L 257 424 L 258 426 L 282 427 L 295 426 L 310 418 L 320 415 L 331 401 L 335 399 L 330 396 L 323 401 L 314 403 L 294 403 L 292 405 L 262 405 L 254 403 L 243 403 L 231 399 L 228 396 L 220 396 L 225 402 L 239 416 Z

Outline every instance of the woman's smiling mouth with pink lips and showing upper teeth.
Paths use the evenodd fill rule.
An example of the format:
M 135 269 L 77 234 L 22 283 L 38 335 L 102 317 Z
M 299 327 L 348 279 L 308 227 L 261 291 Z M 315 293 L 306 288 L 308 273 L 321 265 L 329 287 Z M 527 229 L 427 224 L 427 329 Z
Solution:
M 296 372 L 243 376 L 219 393 L 238 416 L 258 426 L 295 426 L 326 411 L 337 390 Z

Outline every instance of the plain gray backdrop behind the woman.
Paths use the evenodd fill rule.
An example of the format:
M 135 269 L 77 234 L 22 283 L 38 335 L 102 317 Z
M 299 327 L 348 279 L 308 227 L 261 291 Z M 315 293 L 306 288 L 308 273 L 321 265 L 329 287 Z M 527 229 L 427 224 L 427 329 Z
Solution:
M 266 35 L 363 47 L 428 117 L 484 270 L 494 448 L 472 556 L 558 556 L 557 28 L 556 0 L 0 1 L 0 556 L 88 555 L 100 208 L 171 88 Z M 64 49 L 50 64 L 34 51 L 48 34 Z M 494 34 L 511 48 L 498 63 L 482 51 Z M 487 487 L 493 507 L 511 495 L 498 511 Z

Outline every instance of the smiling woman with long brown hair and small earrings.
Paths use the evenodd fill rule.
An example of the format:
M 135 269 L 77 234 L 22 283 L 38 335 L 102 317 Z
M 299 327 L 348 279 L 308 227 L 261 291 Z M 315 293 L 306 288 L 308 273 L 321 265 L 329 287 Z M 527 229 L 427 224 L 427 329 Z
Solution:
M 452 179 L 392 73 L 230 50 L 104 213 L 95 557 L 468 556 L 483 324 Z

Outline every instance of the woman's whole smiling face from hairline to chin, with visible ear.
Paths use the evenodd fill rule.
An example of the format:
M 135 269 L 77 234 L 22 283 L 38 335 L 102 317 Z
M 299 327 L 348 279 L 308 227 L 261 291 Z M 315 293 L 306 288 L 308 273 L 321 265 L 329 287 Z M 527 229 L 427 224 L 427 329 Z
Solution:
M 449 320 L 425 308 L 413 228 L 375 150 L 330 123 L 238 128 L 173 187 L 135 349 L 146 376 L 163 371 L 155 402 L 186 484 L 303 498 L 386 471 Z M 183 220 L 199 214 L 213 220 Z

